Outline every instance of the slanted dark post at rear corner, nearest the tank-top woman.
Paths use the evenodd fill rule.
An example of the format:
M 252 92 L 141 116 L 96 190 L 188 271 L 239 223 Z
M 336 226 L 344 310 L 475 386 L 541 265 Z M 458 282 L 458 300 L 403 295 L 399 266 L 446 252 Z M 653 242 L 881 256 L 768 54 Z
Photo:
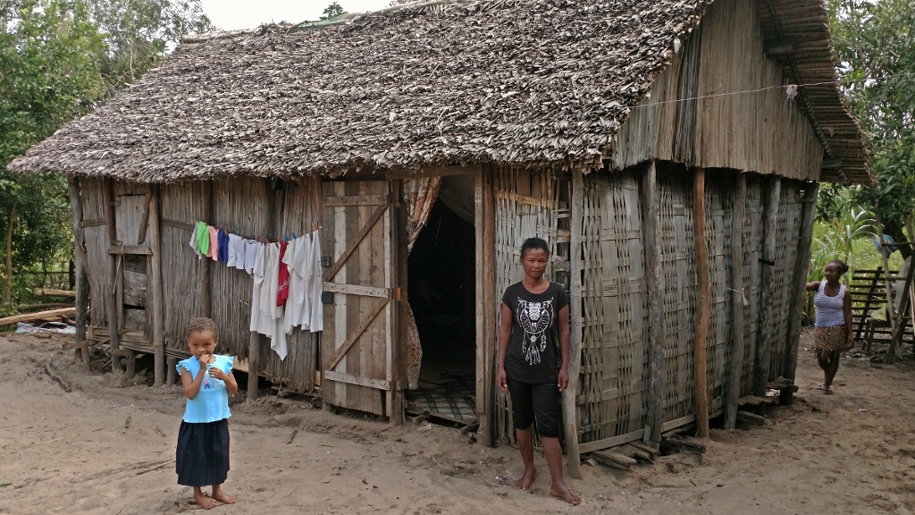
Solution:
M 794 382 L 798 367 L 798 345 L 801 342 L 801 317 L 803 300 L 807 291 L 807 272 L 810 268 L 810 247 L 813 243 L 813 220 L 816 217 L 816 195 L 820 184 L 808 182 L 803 190 L 801 207 L 801 234 L 798 235 L 798 251 L 791 268 L 791 293 L 788 299 L 788 341 L 785 342 L 785 362 L 782 376 Z M 791 404 L 794 392 L 782 389 L 780 404 Z

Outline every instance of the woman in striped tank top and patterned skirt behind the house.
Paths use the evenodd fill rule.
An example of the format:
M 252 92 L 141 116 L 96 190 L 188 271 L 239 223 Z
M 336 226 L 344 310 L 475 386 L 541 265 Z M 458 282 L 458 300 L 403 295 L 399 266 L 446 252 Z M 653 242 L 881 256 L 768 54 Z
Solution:
M 832 394 L 833 378 L 839 369 L 839 356 L 855 346 L 852 335 L 852 294 L 839 282 L 848 271 L 848 265 L 834 259 L 823 268 L 823 279 L 807 283 L 808 291 L 816 291 L 813 305 L 816 306 L 816 359 L 823 368 L 825 381 L 817 389 Z

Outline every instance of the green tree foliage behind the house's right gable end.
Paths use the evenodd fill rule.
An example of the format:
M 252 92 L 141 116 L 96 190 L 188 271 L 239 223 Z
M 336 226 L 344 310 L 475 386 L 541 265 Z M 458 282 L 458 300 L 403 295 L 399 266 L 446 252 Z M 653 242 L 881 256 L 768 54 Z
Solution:
M 911 0 L 827 0 L 845 99 L 871 138 L 872 187 L 853 187 L 855 203 L 873 211 L 885 232 L 905 241 L 915 208 L 915 9 Z M 843 208 L 823 192 L 823 219 Z M 909 249 L 905 249 L 908 255 Z

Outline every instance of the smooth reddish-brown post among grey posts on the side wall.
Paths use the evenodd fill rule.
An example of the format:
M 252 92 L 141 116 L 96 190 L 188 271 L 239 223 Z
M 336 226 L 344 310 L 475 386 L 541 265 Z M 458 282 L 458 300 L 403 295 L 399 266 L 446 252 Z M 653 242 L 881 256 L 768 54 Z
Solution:
M 699 312 L 695 322 L 693 375 L 695 389 L 696 434 L 708 438 L 708 379 L 705 346 L 708 340 L 708 249 L 705 242 L 705 169 L 695 170 L 693 190 L 693 241 L 695 245 L 695 279 L 699 286 Z

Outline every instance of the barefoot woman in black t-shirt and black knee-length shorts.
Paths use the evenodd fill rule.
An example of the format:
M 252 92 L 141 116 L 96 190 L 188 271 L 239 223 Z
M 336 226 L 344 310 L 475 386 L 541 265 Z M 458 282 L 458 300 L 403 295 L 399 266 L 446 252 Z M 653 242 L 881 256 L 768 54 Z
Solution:
M 569 384 L 569 308 L 562 287 L 544 279 L 549 247 L 540 238 L 529 238 L 521 247 L 524 279 L 502 295 L 499 328 L 499 371 L 496 382 L 511 395 L 515 437 L 524 462 L 524 475 L 515 488 L 531 488 L 537 477 L 533 466 L 533 433 L 544 444 L 546 464 L 553 483 L 550 493 L 569 504 L 578 504 L 563 480 L 563 450 L 559 446 L 559 392 Z M 562 365 L 556 365 L 558 328 Z

